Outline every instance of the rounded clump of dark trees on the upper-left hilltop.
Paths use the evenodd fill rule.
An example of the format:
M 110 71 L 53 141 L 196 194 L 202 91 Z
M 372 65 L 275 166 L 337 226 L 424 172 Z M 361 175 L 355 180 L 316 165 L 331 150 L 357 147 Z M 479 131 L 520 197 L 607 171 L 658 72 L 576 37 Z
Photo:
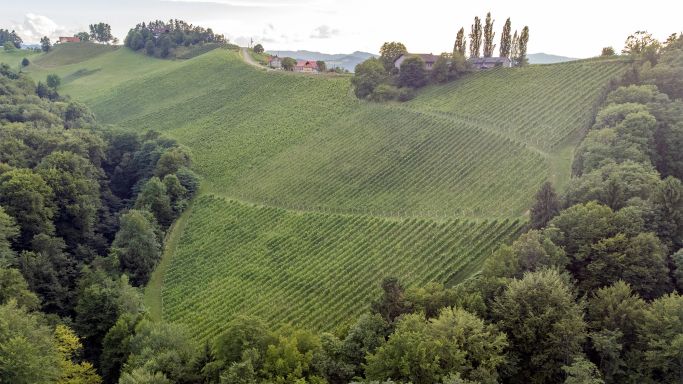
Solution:
M 214 33 L 211 28 L 171 19 L 168 22 L 156 20 L 136 25 L 128 32 L 124 45 L 134 51 L 144 49 L 147 55 L 165 58 L 177 47 L 224 42 L 225 36 Z

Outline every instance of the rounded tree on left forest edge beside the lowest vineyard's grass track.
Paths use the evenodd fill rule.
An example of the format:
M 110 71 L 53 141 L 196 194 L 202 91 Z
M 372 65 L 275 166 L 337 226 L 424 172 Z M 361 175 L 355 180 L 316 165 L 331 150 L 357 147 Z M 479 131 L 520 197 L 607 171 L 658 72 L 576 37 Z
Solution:
M 131 276 L 133 285 L 144 285 L 161 256 L 154 217 L 140 210 L 122 215 L 111 249 L 121 270 Z

